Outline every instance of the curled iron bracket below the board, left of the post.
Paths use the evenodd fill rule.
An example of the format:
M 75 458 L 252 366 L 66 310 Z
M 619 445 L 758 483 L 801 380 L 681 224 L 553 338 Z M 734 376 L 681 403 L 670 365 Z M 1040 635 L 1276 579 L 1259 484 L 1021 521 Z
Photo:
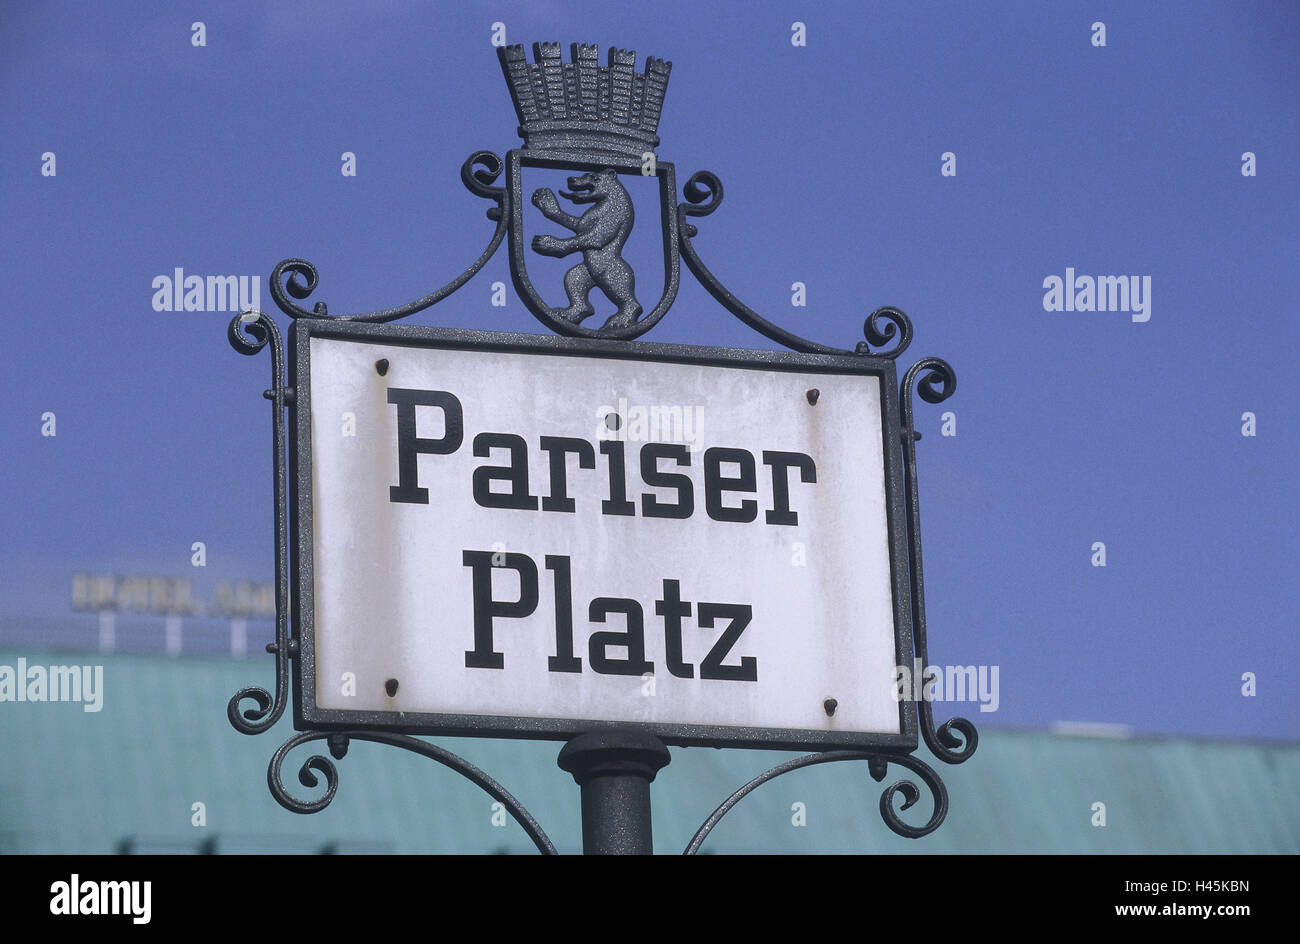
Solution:
M 533 840 L 538 852 L 543 856 L 555 856 L 555 844 L 551 843 L 546 831 L 542 830 L 541 824 L 533 818 L 533 815 L 524 809 L 504 787 L 493 780 L 488 774 L 478 770 L 469 761 L 464 759 L 459 754 L 452 754 L 450 750 L 437 746 L 436 744 L 429 744 L 428 741 L 421 741 L 417 737 L 410 737 L 407 735 L 389 735 L 380 732 L 363 732 L 363 731 L 348 731 L 348 732 L 329 732 L 329 731 L 304 731 L 296 733 L 285 741 L 270 758 L 270 763 L 266 767 L 266 784 L 270 787 L 272 796 L 276 797 L 276 802 L 283 806 L 291 813 L 318 813 L 324 810 L 334 800 L 334 794 L 338 792 L 338 768 L 334 766 L 334 761 L 321 754 L 312 754 L 302 766 L 298 768 L 298 781 L 307 788 L 316 787 L 320 780 L 316 774 L 321 774 L 325 778 L 325 793 L 322 793 L 316 800 L 299 800 L 292 796 L 285 787 L 285 781 L 281 774 L 285 758 L 289 752 L 300 744 L 307 744 L 308 741 L 318 741 L 325 739 L 329 742 L 329 752 L 335 761 L 342 761 L 347 754 L 348 742 L 352 740 L 358 741 L 374 741 L 376 744 L 387 744 L 393 748 L 402 748 L 403 750 L 410 750 L 412 753 L 420 754 L 421 757 L 428 757 L 430 761 L 437 761 L 443 767 L 448 767 L 474 785 L 482 788 L 493 800 L 502 804 L 510 815 L 524 828 L 528 837 Z M 313 774 L 312 771 L 316 771 Z

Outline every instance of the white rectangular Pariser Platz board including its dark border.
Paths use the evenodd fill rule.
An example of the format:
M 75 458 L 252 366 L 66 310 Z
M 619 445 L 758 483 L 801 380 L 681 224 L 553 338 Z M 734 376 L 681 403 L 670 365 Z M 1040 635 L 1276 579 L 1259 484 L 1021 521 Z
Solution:
M 915 748 L 890 359 L 291 337 L 300 726 Z

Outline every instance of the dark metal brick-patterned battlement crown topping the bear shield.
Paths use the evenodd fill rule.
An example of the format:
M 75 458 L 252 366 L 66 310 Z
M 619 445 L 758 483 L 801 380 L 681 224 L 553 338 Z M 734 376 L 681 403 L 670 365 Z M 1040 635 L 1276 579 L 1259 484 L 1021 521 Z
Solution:
M 611 48 L 608 65 L 599 47 L 573 43 L 571 61 L 559 43 L 533 43 L 529 62 L 523 46 L 497 51 L 519 133 L 529 151 L 601 151 L 640 160 L 659 143 L 659 116 L 672 62 L 649 56 L 644 73 L 637 53 Z

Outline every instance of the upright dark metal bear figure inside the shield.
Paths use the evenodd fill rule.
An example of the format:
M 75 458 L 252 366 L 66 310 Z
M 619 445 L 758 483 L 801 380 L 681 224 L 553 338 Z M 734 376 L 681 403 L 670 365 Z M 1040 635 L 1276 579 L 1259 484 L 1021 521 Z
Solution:
M 569 307 L 556 312 L 566 321 L 581 324 L 595 313 L 589 295 L 599 287 L 619 311 L 604 322 L 606 328 L 627 328 L 641 316 L 636 299 L 636 278 L 623 259 L 623 244 L 632 233 L 634 218 L 632 198 L 619 182 L 615 170 L 606 168 L 568 178 L 569 190 L 560 196 L 571 203 L 592 204 L 582 216 L 566 213 L 549 187 L 533 191 L 533 205 L 551 222 L 573 230 L 572 237 L 533 237 L 533 251 L 543 256 L 567 256 L 581 252 L 582 261 L 564 274 Z

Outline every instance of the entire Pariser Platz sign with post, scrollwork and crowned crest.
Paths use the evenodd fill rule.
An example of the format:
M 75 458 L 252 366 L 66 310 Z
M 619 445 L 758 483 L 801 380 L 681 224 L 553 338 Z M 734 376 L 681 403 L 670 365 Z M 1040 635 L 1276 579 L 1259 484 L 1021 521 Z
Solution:
M 291 749 L 326 740 L 341 759 L 350 740 L 380 741 L 468 776 L 554 852 L 503 787 L 417 737 L 488 735 L 566 741 L 589 853 L 651 852 L 668 744 L 819 752 L 737 791 L 688 852 L 766 780 L 848 759 L 926 783 L 923 826 L 898 815 L 919 798 L 913 781 L 880 801 L 894 832 L 926 835 L 948 797 L 913 752 L 923 739 L 959 763 L 978 741 L 965 719 L 936 729 L 928 702 L 897 685 L 897 667 L 928 664 L 911 397 L 939 403 L 956 376 L 928 358 L 898 386 L 911 324 L 896 308 L 836 348 L 724 289 L 689 222 L 718 208 L 722 183 L 696 173 L 675 204 L 673 166 L 654 150 L 671 64 L 636 73 L 634 60 L 500 49 L 524 147 L 462 168 L 495 231 L 438 291 L 367 315 L 308 311 L 294 299 L 315 293 L 316 269 L 289 259 L 270 285 L 294 320 L 287 348 L 265 313 L 231 321 L 235 350 L 272 347 L 277 635 L 276 692 L 240 690 L 230 722 L 270 728 L 292 684 L 299 733 L 268 780 L 299 813 L 328 805 L 338 779 L 313 755 L 299 779 L 322 774 L 325 793 L 291 796 Z M 558 195 L 534 189 L 533 213 L 536 170 L 572 176 Z M 633 176 L 655 178 L 656 213 L 636 212 Z M 660 230 L 658 299 L 621 255 L 637 225 Z M 515 286 L 555 335 L 386 324 L 450 295 L 507 238 Z M 567 260 L 562 278 L 546 257 Z M 636 341 L 672 306 L 682 259 L 788 351 Z M 585 325 L 598 308 L 601 326 Z

